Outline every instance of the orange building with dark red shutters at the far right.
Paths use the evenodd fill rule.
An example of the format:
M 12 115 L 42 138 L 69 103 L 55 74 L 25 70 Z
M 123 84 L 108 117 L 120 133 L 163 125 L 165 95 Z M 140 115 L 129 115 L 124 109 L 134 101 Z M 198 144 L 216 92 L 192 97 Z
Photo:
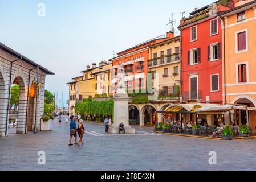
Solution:
M 225 37 L 224 101 L 256 107 L 256 1 L 239 1 L 233 10 L 221 16 L 222 37 Z M 255 127 L 256 112 L 249 111 L 248 117 L 249 125 Z M 233 120 L 235 125 L 245 125 L 246 110 L 236 110 Z

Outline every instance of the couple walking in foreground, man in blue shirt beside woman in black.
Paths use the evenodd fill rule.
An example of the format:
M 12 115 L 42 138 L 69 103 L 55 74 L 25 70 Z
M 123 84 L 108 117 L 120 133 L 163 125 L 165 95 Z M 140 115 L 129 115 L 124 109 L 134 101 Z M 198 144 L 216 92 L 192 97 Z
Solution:
M 79 146 L 80 143 L 82 144 L 83 146 L 83 134 L 85 133 L 85 129 L 84 129 L 84 126 L 83 126 L 83 121 L 80 120 L 79 122 L 79 125 L 76 127 L 76 122 L 75 121 L 71 121 L 70 122 L 70 144 L 69 146 L 72 146 L 73 144 L 71 143 L 71 140 L 73 137 L 75 137 L 75 144 Z M 79 137 L 79 140 L 77 142 L 77 134 L 78 134 L 78 137 Z

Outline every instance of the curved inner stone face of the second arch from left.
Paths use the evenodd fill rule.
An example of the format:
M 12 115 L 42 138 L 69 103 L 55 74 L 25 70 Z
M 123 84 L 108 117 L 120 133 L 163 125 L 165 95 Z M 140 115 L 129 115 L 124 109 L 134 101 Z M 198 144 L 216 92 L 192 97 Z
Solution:
M 27 112 L 27 97 L 26 97 L 26 85 L 25 80 L 22 77 L 16 77 L 12 84 L 19 85 L 19 105 L 18 105 L 18 123 L 17 134 L 25 134 L 26 127 L 26 112 Z

